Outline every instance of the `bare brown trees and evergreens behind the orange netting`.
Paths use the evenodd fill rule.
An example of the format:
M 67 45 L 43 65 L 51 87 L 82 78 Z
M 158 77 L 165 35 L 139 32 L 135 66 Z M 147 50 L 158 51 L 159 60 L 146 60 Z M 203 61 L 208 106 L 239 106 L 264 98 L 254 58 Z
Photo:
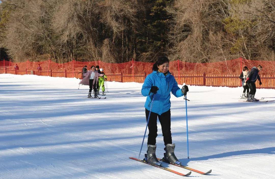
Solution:
M 275 60 L 274 0 L 1 0 L 14 61 Z

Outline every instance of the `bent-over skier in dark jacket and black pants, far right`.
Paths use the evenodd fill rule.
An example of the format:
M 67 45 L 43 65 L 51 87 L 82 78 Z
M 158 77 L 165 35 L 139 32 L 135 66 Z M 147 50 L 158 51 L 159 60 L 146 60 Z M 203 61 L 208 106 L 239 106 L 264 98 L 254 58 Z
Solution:
M 255 98 L 255 93 L 256 93 L 256 85 L 255 82 L 257 79 L 259 80 L 259 84 L 262 85 L 260 76 L 259 76 L 259 71 L 262 70 L 262 66 L 259 65 L 257 68 L 254 66 L 249 74 L 247 75 L 246 78 L 246 84 L 248 85 L 250 92 L 249 92 L 249 98 L 248 101 L 259 101 L 258 99 Z

